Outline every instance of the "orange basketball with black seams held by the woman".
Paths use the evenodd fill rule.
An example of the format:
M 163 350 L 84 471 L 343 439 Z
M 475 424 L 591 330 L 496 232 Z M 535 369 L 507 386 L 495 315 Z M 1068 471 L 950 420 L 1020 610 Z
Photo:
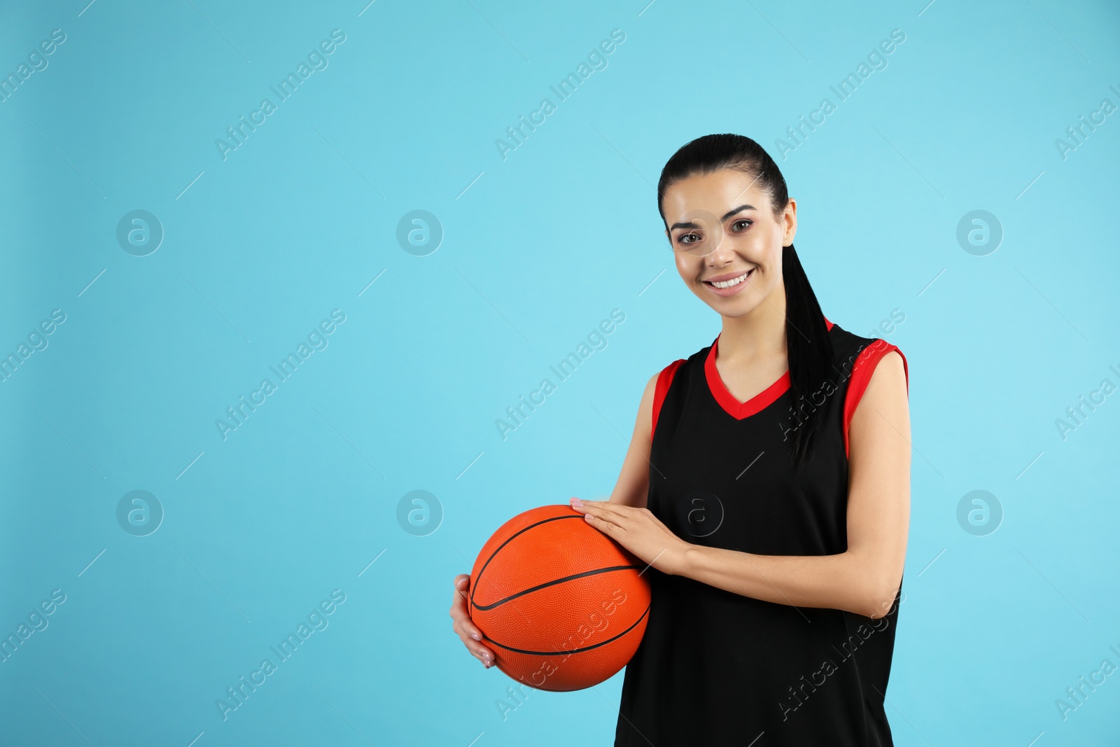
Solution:
M 568 505 L 517 514 L 470 571 L 470 618 L 500 670 L 538 690 L 581 690 L 637 651 L 650 615 L 646 564 Z

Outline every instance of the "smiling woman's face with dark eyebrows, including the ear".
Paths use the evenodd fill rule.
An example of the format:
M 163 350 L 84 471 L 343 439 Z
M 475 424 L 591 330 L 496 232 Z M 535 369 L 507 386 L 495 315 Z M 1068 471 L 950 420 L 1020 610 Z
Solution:
M 782 248 L 797 231 L 795 200 L 775 217 L 755 177 L 720 169 L 671 186 L 662 209 L 676 271 L 720 315 L 744 316 L 785 292 Z

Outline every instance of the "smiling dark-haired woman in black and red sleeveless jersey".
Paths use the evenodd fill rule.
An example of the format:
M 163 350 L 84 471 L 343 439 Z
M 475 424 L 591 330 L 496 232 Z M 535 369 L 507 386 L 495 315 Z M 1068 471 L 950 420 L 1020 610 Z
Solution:
M 722 329 L 650 379 L 610 499 L 571 499 L 650 564 L 615 745 L 892 745 L 906 361 L 821 312 L 796 202 L 754 140 L 685 144 L 657 200 L 684 284 Z M 491 666 L 467 580 L 455 629 Z

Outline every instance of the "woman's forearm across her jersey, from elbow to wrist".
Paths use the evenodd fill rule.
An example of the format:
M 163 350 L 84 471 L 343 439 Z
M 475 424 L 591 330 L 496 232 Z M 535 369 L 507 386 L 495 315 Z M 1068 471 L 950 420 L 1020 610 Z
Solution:
M 836 555 L 759 555 L 737 550 L 689 545 L 676 576 L 745 597 L 795 607 L 844 609 L 881 617 L 894 592 L 852 552 Z

